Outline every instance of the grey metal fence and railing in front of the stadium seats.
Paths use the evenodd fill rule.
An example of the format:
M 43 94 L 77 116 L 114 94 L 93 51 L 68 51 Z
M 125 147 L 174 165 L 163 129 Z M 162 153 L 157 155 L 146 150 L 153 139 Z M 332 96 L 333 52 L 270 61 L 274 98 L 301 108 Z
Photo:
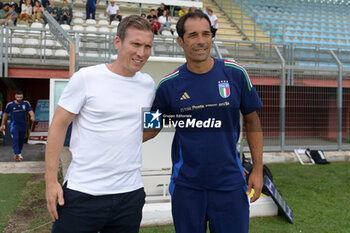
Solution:
M 16 44 L 21 31 L 38 44 Z M 24 32 L 23 32 L 24 31 Z M 109 33 L 67 31 L 77 40 L 79 65 L 110 62 L 116 55 Z M 1 28 L 1 76 L 9 65 L 60 66 L 67 56 L 48 55 L 54 38 L 48 29 Z M 77 37 L 77 35 L 79 35 Z M 16 42 L 16 43 L 15 43 Z M 14 53 L 16 47 L 35 48 L 36 54 Z M 50 47 L 51 46 L 51 47 Z M 64 47 L 56 47 L 60 50 Z M 38 52 L 39 51 L 39 52 Z M 212 56 L 234 59 L 243 65 L 264 107 L 258 111 L 265 151 L 288 151 L 298 147 L 343 150 L 350 148 L 350 49 L 330 50 L 293 44 L 218 40 Z M 183 57 L 175 37 L 155 37 L 152 56 Z M 244 150 L 248 148 L 245 146 Z

